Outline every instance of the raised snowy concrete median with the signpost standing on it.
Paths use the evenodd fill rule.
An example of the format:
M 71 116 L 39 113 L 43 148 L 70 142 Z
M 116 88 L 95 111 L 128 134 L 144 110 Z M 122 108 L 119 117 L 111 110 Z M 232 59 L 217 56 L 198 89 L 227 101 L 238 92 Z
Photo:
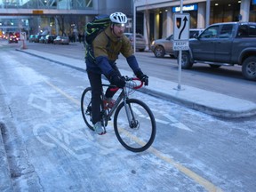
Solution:
M 60 55 L 53 55 L 47 52 L 38 52 L 29 49 L 16 49 L 30 55 L 51 60 L 69 68 L 76 68 L 84 71 L 84 60 L 76 60 Z M 130 71 L 122 71 L 122 74 L 131 75 Z M 164 84 L 164 86 L 163 86 Z M 141 89 L 142 92 L 154 95 L 164 100 L 193 108 L 212 116 L 219 117 L 249 117 L 256 115 L 256 103 L 248 100 L 241 100 L 217 92 L 209 92 L 192 86 L 181 85 L 177 90 L 177 83 L 150 76 L 149 86 Z

